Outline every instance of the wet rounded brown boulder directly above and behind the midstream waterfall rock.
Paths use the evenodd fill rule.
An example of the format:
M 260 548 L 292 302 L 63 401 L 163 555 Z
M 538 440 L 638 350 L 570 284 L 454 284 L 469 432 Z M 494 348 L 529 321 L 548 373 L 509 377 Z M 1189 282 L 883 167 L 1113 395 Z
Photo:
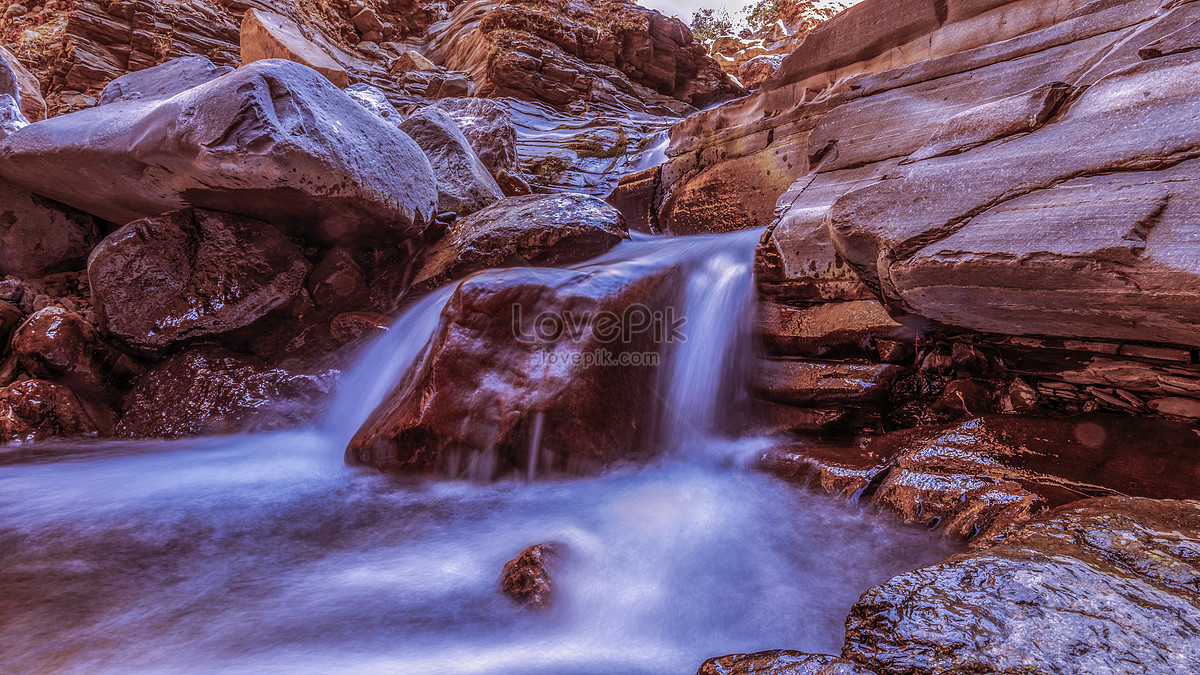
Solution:
M 422 252 L 409 292 L 430 291 L 487 268 L 586 261 L 628 237 L 620 214 L 596 197 L 508 197 L 455 221 Z

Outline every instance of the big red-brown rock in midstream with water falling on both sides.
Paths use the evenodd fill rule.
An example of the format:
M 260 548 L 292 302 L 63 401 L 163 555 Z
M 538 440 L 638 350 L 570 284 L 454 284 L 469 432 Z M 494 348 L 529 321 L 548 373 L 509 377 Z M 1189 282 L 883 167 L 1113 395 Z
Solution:
M 538 470 L 595 471 L 637 456 L 650 424 L 638 393 L 656 368 L 622 354 L 656 353 L 662 338 L 618 335 L 610 318 L 634 304 L 661 311 L 677 293 L 670 268 L 470 276 L 450 298 L 424 362 L 347 447 L 347 462 L 488 478 L 529 470 L 535 438 Z M 535 333 L 547 316 L 570 316 L 571 329 L 564 318 L 562 330 L 541 322 Z

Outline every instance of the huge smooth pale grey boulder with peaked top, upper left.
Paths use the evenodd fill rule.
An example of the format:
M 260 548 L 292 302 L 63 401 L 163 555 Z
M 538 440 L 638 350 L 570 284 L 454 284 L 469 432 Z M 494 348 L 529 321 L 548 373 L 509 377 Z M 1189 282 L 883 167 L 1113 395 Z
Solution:
M 38 123 L 0 142 L 0 175 L 120 225 L 194 205 L 331 243 L 415 235 L 437 204 L 409 137 L 283 60 Z

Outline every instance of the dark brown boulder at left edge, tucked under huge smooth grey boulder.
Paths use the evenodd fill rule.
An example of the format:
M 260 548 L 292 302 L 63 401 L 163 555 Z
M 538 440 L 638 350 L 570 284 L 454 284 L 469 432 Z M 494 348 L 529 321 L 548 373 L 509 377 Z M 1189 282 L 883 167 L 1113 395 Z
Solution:
M 90 215 L 0 179 L 0 274 L 28 279 L 80 269 L 97 241 Z

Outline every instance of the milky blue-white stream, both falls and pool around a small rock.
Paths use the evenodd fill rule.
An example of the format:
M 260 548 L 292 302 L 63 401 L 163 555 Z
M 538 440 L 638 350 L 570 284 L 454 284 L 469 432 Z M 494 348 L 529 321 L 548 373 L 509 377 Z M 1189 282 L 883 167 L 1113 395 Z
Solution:
M 864 590 L 949 551 L 745 468 L 773 442 L 728 437 L 754 240 L 636 240 L 577 265 L 683 271 L 648 466 L 486 484 L 344 466 L 449 289 L 362 354 L 312 429 L 0 454 L 0 671 L 666 674 L 838 652 Z M 554 603 L 522 609 L 500 569 L 542 542 L 565 551 Z

